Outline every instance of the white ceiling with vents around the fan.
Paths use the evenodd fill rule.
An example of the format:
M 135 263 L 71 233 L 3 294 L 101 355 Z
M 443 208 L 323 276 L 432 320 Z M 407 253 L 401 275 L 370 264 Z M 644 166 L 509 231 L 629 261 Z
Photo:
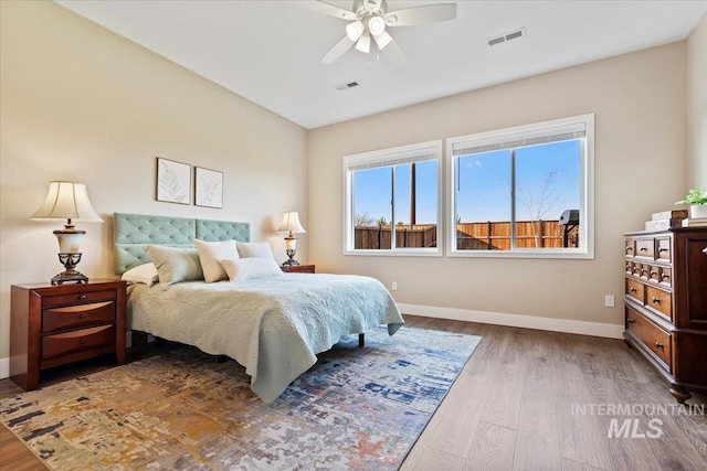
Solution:
M 707 11 L 707 1 L 457 0 L 454 21 L 390 29 L 410 60 L 394 67 L 354 49 L 319 64 L 347 22 L 306 1 L 56 2 L 308 129 L 683 40 Z M 454 0 L 388 9 L 435 2 Z M 527 36 L 486 45 L 518 28 Z

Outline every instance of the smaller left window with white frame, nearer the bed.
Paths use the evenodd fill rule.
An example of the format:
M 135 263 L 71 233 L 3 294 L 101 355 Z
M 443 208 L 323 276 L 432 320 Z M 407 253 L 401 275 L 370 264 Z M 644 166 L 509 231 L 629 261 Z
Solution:
M 441 255 L 442 141 L 347 156 L 346 254 Z

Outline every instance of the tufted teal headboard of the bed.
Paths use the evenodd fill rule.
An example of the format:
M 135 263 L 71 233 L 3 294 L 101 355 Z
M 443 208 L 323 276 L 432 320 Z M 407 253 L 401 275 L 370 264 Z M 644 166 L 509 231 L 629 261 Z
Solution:
M 250 242 L 249 223 L 114 213 L 116 274 L 150 261 L 146 245 L 193 247 L 193 239 Z

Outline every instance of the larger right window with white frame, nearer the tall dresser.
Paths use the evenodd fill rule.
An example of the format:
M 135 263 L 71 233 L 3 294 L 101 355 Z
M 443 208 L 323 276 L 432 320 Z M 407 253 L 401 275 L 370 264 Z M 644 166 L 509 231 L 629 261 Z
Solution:
M 449 254 L 593 257 L 593 115 L 447 139 Z

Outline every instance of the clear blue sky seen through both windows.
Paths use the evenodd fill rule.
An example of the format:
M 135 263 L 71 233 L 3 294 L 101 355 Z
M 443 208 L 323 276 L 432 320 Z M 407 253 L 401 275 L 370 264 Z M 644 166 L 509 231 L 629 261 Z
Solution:
M 558 220 L 564 210 L 579 208 L 579 140 L 532 146 L 516 150 L 517 221 L 537 214 L 545 195 L 544 220 Z M 410 223 L 410 164 L 395 167 L 395 222 Z M 436 222 L 436 161 L 416 164 L 416 223 Z M 544 183 L 548 181 L 547 189 Z M 510 220 L 510 151 L 477 153 L 460 158 L 456 186 L 457 213 L 462 222 Z M 355 214 L 368 213 L 373 221 L 390 222 L 391 168 L 356 172 Z

